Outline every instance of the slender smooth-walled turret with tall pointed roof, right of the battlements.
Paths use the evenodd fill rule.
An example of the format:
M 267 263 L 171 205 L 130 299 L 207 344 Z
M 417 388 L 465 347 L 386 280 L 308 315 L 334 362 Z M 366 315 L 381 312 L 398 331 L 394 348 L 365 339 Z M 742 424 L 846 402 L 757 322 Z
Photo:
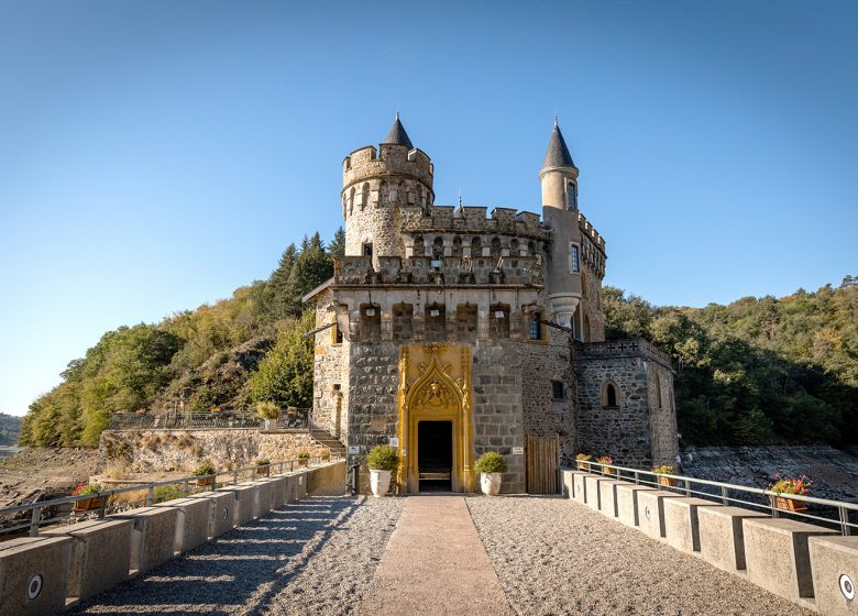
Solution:
M 551 230 L 546 292 L 557 321 L 571 326 L 581 301 L 581 231 L 578 224 L 578 167 L 557 118 L 539 170 L 542 218 Z

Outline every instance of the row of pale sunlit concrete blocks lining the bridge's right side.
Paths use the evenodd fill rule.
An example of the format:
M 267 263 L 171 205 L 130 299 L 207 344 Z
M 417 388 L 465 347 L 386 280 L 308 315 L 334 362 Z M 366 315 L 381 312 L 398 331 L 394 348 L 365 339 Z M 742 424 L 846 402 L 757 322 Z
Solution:
M 639 529 L 653 540 L 740 575 L 825 616 L 858 614 L 858 537 L 765 513 L 689 498 L 681 490 L 606 481 L 564 470 L 569 498 Z M 608 477 L 610 479 L 610 477 Z M 602 507 L 593 505 L 596 486 Z M 585 492 L 586 491 L 586 492 Z M 604 495 L 616 494 L 616 509 Z M 617 516 L 617 517 L 615 517 Z

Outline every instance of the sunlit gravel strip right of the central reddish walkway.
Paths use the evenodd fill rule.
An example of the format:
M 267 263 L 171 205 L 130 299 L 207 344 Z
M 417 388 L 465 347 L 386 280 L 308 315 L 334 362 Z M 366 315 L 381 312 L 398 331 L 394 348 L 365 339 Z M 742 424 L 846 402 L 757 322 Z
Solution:
M 470 497 L 468 505 L 519 614 L 813 614 L 568 499 Z

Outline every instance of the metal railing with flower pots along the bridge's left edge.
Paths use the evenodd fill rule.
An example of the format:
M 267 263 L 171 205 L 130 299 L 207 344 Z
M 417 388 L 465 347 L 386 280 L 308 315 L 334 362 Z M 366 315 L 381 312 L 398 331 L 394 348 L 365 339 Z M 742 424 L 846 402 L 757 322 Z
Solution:
M 208 475 L 189 475 L 174 480 L 145 482 L 127 487 L 105 490 L 91 494 L 79 494 L 15 505 L 0 508 L 0 536 L 18 534 L 24 530 L 30 537 L 37 537 L 38 529 L 46 525 L 74 524 L 81 519 L 98 518 L 136 507 L 152 506 L 175 498 L 184 498 L 194 494 L 213 492 L 218 487 L 237 485 L 239 480 L 252 481 L 255 477 L 270 477 L 276 470 L 277 474 L 294 472 L 296 469 L 312 468 L 339 460 L 339 455 L 316 457 L 308 459 L 292 459 L 270 464 L 254 464 L 241 469 Z M 134 494 L 136 493 L 136 494 Z M 145 493 L 145 494 L 143 494 Z M 128 499 L 120 498 L 128 495 Z M 95 506 L 92 506 L 92 502 Z M 72 505 L 72 508 L 68 508 Z M 91 508 L 90 508 L 91 507 Z

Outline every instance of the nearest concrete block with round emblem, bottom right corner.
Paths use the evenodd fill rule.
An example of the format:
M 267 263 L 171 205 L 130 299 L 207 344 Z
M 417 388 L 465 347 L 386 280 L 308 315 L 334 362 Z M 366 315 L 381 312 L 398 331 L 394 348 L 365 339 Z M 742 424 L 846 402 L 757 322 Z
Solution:
M 858 537 L 807 540 L 816 607 L 826 616 L 858 614 Z

